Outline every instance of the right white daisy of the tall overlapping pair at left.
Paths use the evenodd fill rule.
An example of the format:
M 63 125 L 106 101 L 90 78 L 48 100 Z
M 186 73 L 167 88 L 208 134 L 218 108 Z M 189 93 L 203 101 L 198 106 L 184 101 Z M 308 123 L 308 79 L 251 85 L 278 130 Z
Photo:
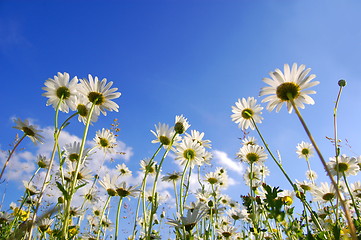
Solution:
M 113 82 L 107 83 L 106 78 L 99 81 L 98 77 L 93 78 L 90 74 L 88 78 L 89 80 L 80 80 L 78 91 L 95 105 L 95 111 L 100 111 L 104 116 L 107 115 L 107 110 L 118 112 L 119 106 L 112 99 L 119 98 L 121 93 L 116 92 L 118 88 L 111 88 Z

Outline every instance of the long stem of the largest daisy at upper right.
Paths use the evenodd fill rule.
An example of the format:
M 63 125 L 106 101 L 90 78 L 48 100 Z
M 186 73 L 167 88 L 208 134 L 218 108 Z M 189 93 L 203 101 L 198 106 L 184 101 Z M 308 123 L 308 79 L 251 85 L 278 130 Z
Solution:
M 341 203 L 341 206 L 342 206 L 342 209 L 343 209 L 343 211 L 344 211 L 344 213 L 345 213 L 345 217 L 346 217 L 346 219 L 347 219 L 347 223 L 348 223 L 348 225 L 349 225 L 349 227 L 350 227 L 352 239 L 353 239 L 353 240 L 357 240 L 355 225 L 354 225 L 353 222 L 352 222 L 352 218 L 351 218 L 351 216 L 350 216 L 350 211 L 348 210 L 348 207 L 346 206 L 345 201 L 342 199 L 342 196 L 341 196 L 340 190 L 339 190 L 339 188 L 338 188 L 338 186 L 337 186 L 337 183 L 336 183 L 335 179 L 332 177 L 331 172 L 330 172 L 330 170 L 328 169 L 328 167 L 327 167 L 327 165 L 326 165 L 326 161 L 325 161 L 325 159 L 323 158 L 323 155 L 322 155 L 320 149 L 318 148 L 316 141 L 314 140 L 314 138 L 313 138 L 310 130 L 308 129 L 305 121 L 303 120 L 303 117 L 302 117 L 300 111 L 298 110 L 295 102 L 293 101 L 292 95 L 288 93 L 288 94 L 287 94 L 287 97 L 288 97 L 288 99 L 290 100 L 290 102 L 291 102 L 291 104 L 292 104 L 292 107 L 293 107 L 293 109 L 295 110 L 296 115 L 297 115 L 298 119 L 300 120 L 300 122 L 301 122 L 301 124 L 302 124 L 302 126 L 303 126 L 303 128 L 304 128 L 304 130 L 305 130 L 305 132 L 306 132 L 306 134 L 307 134 L 307 136 L 309 137 L 309 139 L 310 139 L 310 141 L 311 141 L 311 143 L 312 143 L 312 145 L 313 145 L 313 147 L 315 148 L 315 150 L 316 150 L 316 152 L 317 152 L 317 155 L 318 155 L 318 157 L 320 158 L 321 163 L 322 163 L 322 165 L 323 165 L 323 167 L 324 167 L 324 169 L 325 169 L 328 177 L 329 177 L 330 180 L 331 180 L 332 185 L 333 185 L 334 188 L 336 189 L 337 198 L 339 198 L 340 203 Z

